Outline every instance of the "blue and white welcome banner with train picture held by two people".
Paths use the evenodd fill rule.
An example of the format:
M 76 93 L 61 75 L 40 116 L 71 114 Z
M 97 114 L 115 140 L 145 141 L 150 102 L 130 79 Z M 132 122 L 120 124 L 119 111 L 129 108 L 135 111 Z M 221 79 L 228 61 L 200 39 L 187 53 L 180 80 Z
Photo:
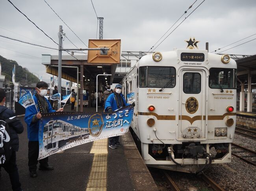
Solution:
M 64 151 L 102 138 L 123 135 L 130 127 L 133 107 L 113 113 L 54 112 L 42 114 L 39 125 L 39 156 Z

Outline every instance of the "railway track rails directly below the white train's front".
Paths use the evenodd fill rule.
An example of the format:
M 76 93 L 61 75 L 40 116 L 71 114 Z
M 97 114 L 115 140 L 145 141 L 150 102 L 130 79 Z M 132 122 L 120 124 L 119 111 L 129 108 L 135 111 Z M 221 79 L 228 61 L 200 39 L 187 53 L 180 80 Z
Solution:
M 167 170 L 163 170 L 163 175 L 165 176 L 165 179 L 167 180 L 167 183 L 169 184 L 169 186 L 171 186 L 172 191 L 180 191 L 178 186 L 175 184 L 175 182 L 172 180 L 172 178 L 167 173 Z M 224 191 L 224 189 L 221 188 L 221 186 L 219 186 L 219 184 L 214 182 L 209 176 L 202 174 L 198 177 L 200 177 L 199 178 L 200 180 L 202 180 L 203 182 L 206 182 L 206 184 L 210 185 L 214 191 Z

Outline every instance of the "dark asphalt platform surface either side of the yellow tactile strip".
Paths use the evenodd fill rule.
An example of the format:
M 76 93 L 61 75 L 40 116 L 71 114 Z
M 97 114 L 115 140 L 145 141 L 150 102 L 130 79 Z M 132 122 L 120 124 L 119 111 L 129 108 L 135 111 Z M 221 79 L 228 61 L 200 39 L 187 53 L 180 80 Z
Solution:
M 70 105 L 65 106 L 64 109 L 65 111 L 71 111 Z M 83 111 L 96 112 L 96 108 L 84 107 Z M 101 111 L 103 111 L 103 108 L 98 107 L 98 112 Z M 85 191 L 94 156 L 94 154 L 90 153 L 93 142 L 72 147 L 62 153 L 50 155 L 49 164 L 54 167 L 54 170 L 37 170 L 38 176 L 31 178 L 28 170 L 27 126 L 24 122 L 24 116 L 21 116 L 20 120 L 25 127 L 24 132 L 19 135 L 20 147 L 17 152 L 17 166 L 22 189 L 24 191 Z M 134 151 L 131 153 L 134 153 Z M 147 190 L 155 190 L 155 184 L 153 184 L 153 187 L 151 185 L 152 176 L 148 173 L 145 174 L 145 164 L 141 156 L 138 155 L 138 151 L 136 156 L 140 158 L 141 165 L 144 166 L 142 171 L 138 169 L 139 167 L 136 167 L 135 174 L 132 172 L 134 171 L 132 169 L 134 165 L 129 164 L 128 160 L 130 159 L 124 154 L 126 152 L 125 147 L 118 147 L 117 149 L 110 149 L 108 147 L 108 152 L 108 191 L 145 190 L 146 187 Z M 139 160 L 137 157 L 135 157 L 135 161 Z M 39 167 L 39 164 L 37 166 Z M 1 173 L 0 191 L 11 191 L 9 175 L 3 168 Z M 143 181 L 141 181 L 141 184 L 137 184 L 138 178 L 143 180 L 145 184 L 143 184 Z M 148 189 L 148 187 L 151 189 Z

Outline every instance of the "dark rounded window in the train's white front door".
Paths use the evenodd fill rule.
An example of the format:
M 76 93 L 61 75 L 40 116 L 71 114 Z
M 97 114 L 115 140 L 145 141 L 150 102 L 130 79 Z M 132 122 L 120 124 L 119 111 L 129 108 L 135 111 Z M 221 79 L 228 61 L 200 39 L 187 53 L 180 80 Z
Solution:
M 199 73 L 194 73 L 194 72 L 184 73 L 183 91 L 184 93 L 200 93 L 201 92 L 201 75 Z

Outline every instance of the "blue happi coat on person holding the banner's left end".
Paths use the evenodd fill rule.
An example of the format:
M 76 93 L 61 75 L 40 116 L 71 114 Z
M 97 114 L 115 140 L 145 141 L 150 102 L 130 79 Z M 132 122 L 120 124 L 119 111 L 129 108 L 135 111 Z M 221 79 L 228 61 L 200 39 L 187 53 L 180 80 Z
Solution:
M 35 95 L 33 96 L 33 99 L 35 101 L 35 105 L 26 108 L 25 122 L 28 126 L 28 140 L 38 141 L 39 120 L 37 120 L 37 122 L 32 122 L 32 119 L 33 116 L 37 114 L 37 109 L 39 111 L 39 106 L 38 100 Z M 56 110 L 52 109 L 50 102 L 46 98 L 45 100 L 48 104 L 48 113 L 56 112 Z M 35 106 L 37 107 L 37 109 L 35 108 Z

